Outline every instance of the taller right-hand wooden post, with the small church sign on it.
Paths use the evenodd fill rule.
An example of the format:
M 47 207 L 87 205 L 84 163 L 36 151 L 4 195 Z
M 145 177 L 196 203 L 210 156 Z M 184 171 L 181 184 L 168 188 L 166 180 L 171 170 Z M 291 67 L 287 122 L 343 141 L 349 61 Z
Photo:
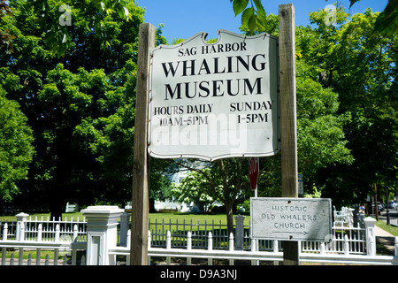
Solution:
M 279 5 L 279 91 L 282 197 L 298 197 L 295 101 L 295 7 Z M 299 264 L 298 241 L 283 242 L 283 264 Z

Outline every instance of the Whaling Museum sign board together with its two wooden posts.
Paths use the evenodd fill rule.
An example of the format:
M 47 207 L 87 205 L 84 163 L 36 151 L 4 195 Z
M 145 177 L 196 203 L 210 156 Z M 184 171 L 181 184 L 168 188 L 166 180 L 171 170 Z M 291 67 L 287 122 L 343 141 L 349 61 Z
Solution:
M 290 198 L 298 197 L 295 102 L 295 11 L 293 4 L 279 5 L 280 107 L 275 104 L 278 101 L 278 52 L 276 45 L 277 41 L 275 38 L 272 38 L 269 34 L 246 37 L 239 34 L 220 31 L 220 39 L 218 43 L 207 44 L 203 41 L 205 37 L 203 35 L 204 34 L 196 34 L 192 38 L 188 39 L 187 42 L 183 42 L 184 44 L 181 43 L 179 46 L 161 46 L 155 49 L 156 28 L 150 24 L 142 24 L 140 26 L 137 95 L 135 101 L 132 234 L 130 255 L 131 264 L 134 265 L 148 264 L 149 154 L 154 157 L 163 158 L 171 158 L 175 155 L 176 157 L 206 157 L 210 160 L 234 156 L 260 157 L 273 155 L 279 151 L 279 113 L 278 111 L 273 110 L 278 110 L 278 108 L 280 108 L 282 196 Z M 266 45 L 254 44 L 256 41 L 260 40 L 261 42 L 265 42 Z M 253 43 L 251 41 L 255 42 Z M 214 57 L 214 55 L 210 54 L 211 52 L 223 53 L 226 50 L 228 52 L 233 51 L 234 53 L 233 55 L 225 57 L 223 60 L 221 57 Z M 157 56 L 155 56 L 156 52 Z M 240 52 L 243 53 L 241 54 Z M 247 56 L 247 53 L 249 53 L 249 56 Z M 226 56 L 226 52 L 223 54 Z M 163 55 L 166 56 L 163 57 Z M 249 64 L 249 62 L 246 63 L 244 61 L 244 58 L 248 57 L 249 59 L 250 56 L 252 57 Z M 177 69 L 180 65 L 180 60 L 182 60 L 180 57 L 188 58 L 183 60 L 180 69 Z M 235 61 L 233 61 L 233 57 L 235 57 Z M 161 60 L 159 61 L 159 59 Z M 202 65 L 199 69 L 195 69 L 196 61 L 198 62 L 197 65 Z M 233 62 L 235 62 L 235 65 L 233 65 Z M 220 67 L 222 63 L 224 64 L 223 68 Z M 213 64 L 213 66 L 209 67 L 209 64 Z M 243 67 L 246 68 L 246 73 L 241 72 Z M 213 73 L 211 73 L 211 70 L 213 70 Z M 209 81 L 204 80 L 198 85 L 198 79 L 196 80 L 196 76 L 201 76 L 202 72 L 209 75 L 217 74 L 217 76 L 212 80 L 211 84 Z M 262 72 L 261 77 L 256 77 L 258 72 Z M 192 80 L 191 86 L 195 88 L 199 87 L 200 91 L 197 93 L 197 96 L 196 91 L 194 91 L 194 93 L 189 92 L 190 85 L 186 78 L 188 73 L 190 74 L 190 80 Z M 266 78 L 264 78 L 264 73 L 268 73 L 268 75 L 265 75 Z M 242 74 L 245 74 L 247 77 L 241 77 Z M 252 78 L 253 75 L 255 75 L 254 79 Z M 149 78 L 151 78 L 150 81 Z M 233 80 L 231 78 L 235 79 L 237 86 L 239 86 L 239 82 L 242 81 L 241 88 L 237 88 L 236 90 L 238 91 L 237 93 L 232 92 L 231 84 Z M 172 82 L 175 83 L 173 85 L 174 87 L 171 86 Z M 264 84 L 262 84 L 263 82 Z M 181 87 L 182 84 L 184 84 L 184 88 Z M 213 88 L 211 92 L 210 85 Z M 222 88 L 222 86 L 224 86 L 224 88 Z M 262 106 L 264 107 L 264 111 L 268 111 L 262 114 L 263 116 L 261 116 L 261 119 L 259 119 L 258 114 L 252 112 L 245 113 L 244 116 L 241 116 L 242 113 L 236 114 L 234 113 L 236 111 L 234 102 L 224 101 L 225 98 L 230 98 L 229 96 L 237 96 L 241 93 L 240 97 L 242 102 L 246 102 L 245 99 L 248 97 L 247 92 L 251 93 L 251 96 L 249 97 L 252 100 L 257 96 L 264 98 L 265 93 L 266 96 L 273 97 L 268 99 L 268 103 L 264 102 L 263 104 L 257 101 L 251 101 L 251 103 L 264 105 Z M 204 105 L 202 107 L 201 102 L 203 102 L 203 99 L 208 101 L 209 97 L 207 96 L 210 96 L 210 93 L 212 94 L 211 98 L 214 99 L 214 102 L 206 102 L 208 104 L 202 104 L 202 106 Z M 175 100 L 178 99 L 180 101 L 183 100 L 183 98 L 190 103 L 176 104 Z M 195 101 L 192 100 L 194 98 Z M 159 99 L 161 102 L 160 104 L 158 103 Z M 172 104 L 169 105 L 169 103 Z M 172 112 L 170 115 L 191 114 L 191 110 L 194 109 L 194 106 L 197 106 L 197 104 L 199 104 L 199 108 L 197 108 L 198 110 L 196 111 L 197 113 L 195 114 L 195 117 L 183 118 L 182 116 L 179 116 L 173 117 L 173 119 L 172 117 L 169 117 L 168 119 L 160 117 L 161 114 L 169 114 L 168 111 Z M 228 105 L 229 108 L 223 110 L 222 107 Z M 222 111 L 216 113 L 218 108 Z M 272 149 L 269 149 L 269 152 L 266 152 L 265 149 L 261 149 L 260 152 L 257 152 L 258 150 L 255 149 L 250 151 L 249 146 L 253 145 L 253 141 L 250 139 L 250 142 L 243 141 L 245 143 L 243 143 L 244 147 L 242 147 L 242 149 L 246 150 L 233 151 L 231 145 L 228 145 L 228 150 L 226 150 L 227 154 L 224 151 L 220 153 L 217 150 L 222 144 L 215 143 L 213 145 L 207 140 L 207 136 L 214 134 L 217 135 L 218 132 L 215 132 L 214 134 L 206 134 L 206 138 L 203 138 L 200 141 L 186 141 L 184 139 L 181 141 L 180 132 L 178 130 L 184 128 L 186 130 L 185 132 L 188 132 L 188 130 L 193 131 L 191 134 L 195 135 L 195 131 L 198 131 L 199 127 L 196 125 L 196 127 L 192 129 L 190 126 L 192 126 L 191 124 L 193 124 L 193 121 L 198 121 L 198 123 L 200 122 L 200 124 L 204 124 L 200 126 L 207 126 L 207 124 L 210 125 L 210 123 L 212 123 L 210 114 L 212 114 L 211 117 L 215 116 L 217 118 L 221 115 L 223 118 L 226 118 L 226 113 L 229 115 L 229 118 L 231 118 L 231 116 L 233 117 L 232 124 L 235 126 L 232 131 L 233 136 L 236 136 L 236 123 L 246 126 L 244 127 L 244 130 L 246 131 L 244 132 L 245 134 L 241 134 L 241 137 L 244 136 L 246 138 L 251 132 L 255 132 L 256 135 L 258 135 L 255 124 L 259 124 L 263 127 L 264 125 L 269 124 L 268 126 L 270 127 L 270 131 L 262 131 L 262 134 L 268 133 L 268 135 L 262 138 L 262 143 L 264 143 L 264 140 L 274 141 L 269 142 Z M 155 121 L 153 121 L 154 117 L 157 118 Z M 245 119 L 244 122 L 242 117 Z M 256 119 L 254 119 L 255 117 Z M 213 124 L 216 123 L 218 123 L 217 119 L 214 120 Z M 157 128 L 155 128 L 157 131 L 150 132 L 149 126 L 151 129 L 154 126 L 157 126 Z M 170 137 L 167 135 L 167 133 L 169 133 L 167 130 L 170 130 L 171 128 L 174 129 L 174 132 L 169 132 L 171 134 L 179 134 L 179 139 L 176 139 L 176 136 L 172 136 L 172 144 L 169 144 L 167 142 L 170 142 L 170 139 L 163 139 L 163 137 Z M 155 135 L 155 138 L 154 133 L 157 134 Z M 182 135 L 182 137 L 184 138 L 186 135 L 187 133 Z M 160 144 L 159 141 L 165 142 L 165 144 Z M 155 142 L 158 142 L 159 144 L 155 144 Z M 175 145 L 173 144 L 175 142 L 180 143 Z M 187 142 L 191 142 L 193 144 L 189 143 L 188 147 L 182 147 L 182 145 L 185 145 Z M 198 148 L 200 149 L 200 154 L 190 151 L 182 152 L 182 149 L 193 149 L 193 145 L 197 144 L 201 146 Z M 155 145 L 157 147 L 155 147 Z M 176 152 L 170 152 L 173 149 L 172 145 L 177 146 Z M 211 148 L 211 146 L 213 147 Z M 166 152 L 163 152 L 162 149 L 165 148 L 167 150 Z M 210 153 L 207 152 L 205 156 L 203 156 L 204 148 L 206 151 L 210 151 Z M 211 151 L 210 149 L 214 150 Z M 155 152 L 154 150 L 157 150 L 158 152 Z M 283 249 L 284 264 L 298 264 L 298 242 L 284 241 Z

